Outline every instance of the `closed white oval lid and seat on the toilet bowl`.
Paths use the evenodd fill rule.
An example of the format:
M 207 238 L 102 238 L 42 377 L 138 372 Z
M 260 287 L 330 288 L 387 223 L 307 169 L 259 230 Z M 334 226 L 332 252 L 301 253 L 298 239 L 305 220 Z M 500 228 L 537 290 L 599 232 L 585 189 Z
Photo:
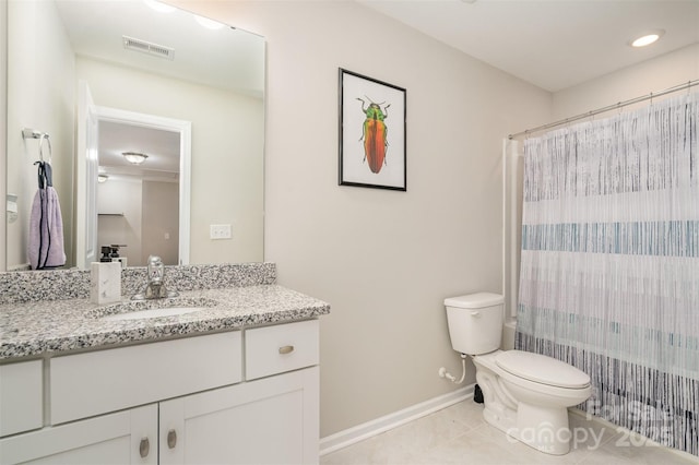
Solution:
M 564 361 L 522 350 L 501 351 L 496 365 L 508 373 L 556 388 L 583 389 L 590 385 L 590 377 Z

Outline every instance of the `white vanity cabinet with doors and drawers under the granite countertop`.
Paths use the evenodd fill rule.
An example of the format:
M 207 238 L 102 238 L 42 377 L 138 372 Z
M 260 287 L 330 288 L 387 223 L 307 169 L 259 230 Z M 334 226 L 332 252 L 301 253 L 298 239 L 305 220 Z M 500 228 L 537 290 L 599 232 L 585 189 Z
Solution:
M 317 320 L 48 362 L 50 426 L 0 439 L 2 464 L 318 463 Z

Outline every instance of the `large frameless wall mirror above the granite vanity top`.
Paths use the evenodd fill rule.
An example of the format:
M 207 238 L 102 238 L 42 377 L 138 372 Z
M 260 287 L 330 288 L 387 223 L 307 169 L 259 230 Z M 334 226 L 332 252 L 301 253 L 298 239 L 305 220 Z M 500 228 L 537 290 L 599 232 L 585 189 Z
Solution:
M 98 205 L 93 208 L 94 215 L 90 213 L 86 193 L 93 189 L 99 195 L 100 187 L 96 174 L 87 176 L 84 166 L 90 153 L 79 135 L 81 81 L 86 83 L 98 116 L 123 111 L 190 124 L 191 166 L 186 168 L 187 176 L 173 175 L 171 170 L 168 174 L 189 181 L 167 181 L 178 186 L 180 202 L 189 184 L 190 206 L 185 214 L 180 210 L 176 215 L 177 230 L 168 226 L 154 236 L 161 242 L 170 241 L 170 246 L 185 238 L 189 247 L 179 250 L 189 250 L 175 260 L 263 260 L 264 39 L 152 0 L 10 0 L 7 194 L 16 195 L 17 214 L 9 218 L 7 227 L 7 270 L 26 269 L 28 262 L 28 216 L 37 190 L 33 163 L 38 159 L 39 144 L 22 138 L 25 128 L 49 135 L 67 267 L 81 263 L 79 258 L 90 249 L 93 236 L 96 252 L 104 241 L 122 240 L 125 236 L 119 236 L 116 228 L 130 231 L 125 239 L 130 242 L 127 250 L 140 248 L 147 257 L 155 251 L 151 249 L 156 249 L 153 241 L 147 242 L 150 246 L 137 241 L 135 216 L 102 218 L 97 213 L 123 212 L 98 212 Z M 99 119 L 98 124 L 104 129 L 110 122 Z M 147 145 L 135 144 L 135 134 L 120 138 L 122 144 L 95 148 L 98 157 L 94 158 L 100 165 L 107 151 L 146 151 L 135 148 Z M 107 136 L 100 131 L 98 139 Z M 158 154 L 147 155 L 141 170 L 158 170 Z M 109 169 L 118 170 L 107 164 L 102 167 L 104 171 Z M 122 175 L 115 171 L 115 176 Z M 115 195 L 102 194 L 103 200 L 114 200 Z M 150 210 L 144 204 L 140 215 L 153 219 L 158 212 L 175 208 L 171 203 Z M 82 222 L 81 215 L 85 217 Z M 189 226 L 182 225 L 182 218 Z M 99 239 L 98 223 L 104 224 L 103 229 L 106 226 Z M 229 227 L 230 238 L 225 234 L 218 238 L 218 226 L 224 231 Z M 212 235 L 212 230 L 217 234 Z M 82 262 L 84 265 L 85 260 Z M 139 260 L 130 258 L 129 262 L 138 264 Z

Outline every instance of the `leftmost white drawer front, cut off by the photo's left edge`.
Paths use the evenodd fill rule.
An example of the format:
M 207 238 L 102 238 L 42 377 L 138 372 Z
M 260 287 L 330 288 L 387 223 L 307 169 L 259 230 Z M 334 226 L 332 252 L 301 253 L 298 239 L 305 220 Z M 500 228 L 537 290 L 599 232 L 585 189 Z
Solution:
M 0 366 L 0 436 L 42 428 L 42 360 Z

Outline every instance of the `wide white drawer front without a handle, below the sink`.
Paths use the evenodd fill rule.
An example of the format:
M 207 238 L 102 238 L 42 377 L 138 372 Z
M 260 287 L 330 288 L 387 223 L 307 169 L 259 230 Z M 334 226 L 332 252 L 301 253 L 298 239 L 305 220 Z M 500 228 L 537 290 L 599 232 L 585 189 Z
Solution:
M 51 359 L 51 425 L 234 384 L 242 379 L 240 332 Z

